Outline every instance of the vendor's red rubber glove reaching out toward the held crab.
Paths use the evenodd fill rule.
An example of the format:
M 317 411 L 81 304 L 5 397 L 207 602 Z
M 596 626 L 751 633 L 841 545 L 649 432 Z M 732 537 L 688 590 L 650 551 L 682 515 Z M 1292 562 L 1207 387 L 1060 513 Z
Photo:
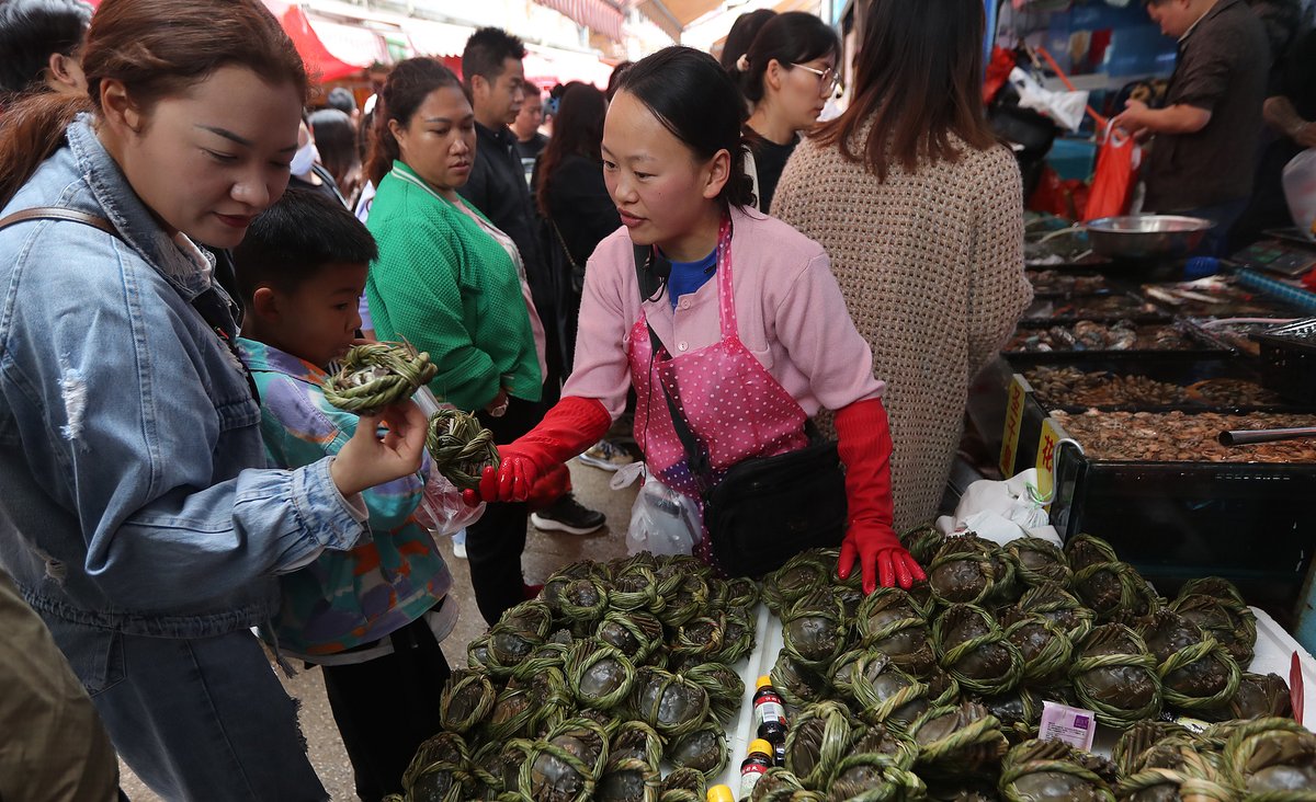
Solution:
M 566 396 L 540 425 L 509 446 L 499 446 L 501 464 L 484 468 L 479 490 L 462 490 L 468 505 L 482 501 L 525 501 L 534 481 L 599 442 L 612 415 L 597 398 Z

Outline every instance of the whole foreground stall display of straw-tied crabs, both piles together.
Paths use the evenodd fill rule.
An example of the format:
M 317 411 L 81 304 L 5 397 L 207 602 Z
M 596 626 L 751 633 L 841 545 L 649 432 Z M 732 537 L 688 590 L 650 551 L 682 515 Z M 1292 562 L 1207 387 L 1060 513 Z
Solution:
M 409 798 L 1316 794 L 1316 663 L 1228 582 L 1161 597 L 1087 535 L 905 542 L 929 581 L 867 597 L 834 551 L 762 582 L 647 554 L 563 568 L 471 643 Z M 763 676 L 784 728 L 761 726 Z M 749 791 L 765 732 L 775 765 L 751 761 Z

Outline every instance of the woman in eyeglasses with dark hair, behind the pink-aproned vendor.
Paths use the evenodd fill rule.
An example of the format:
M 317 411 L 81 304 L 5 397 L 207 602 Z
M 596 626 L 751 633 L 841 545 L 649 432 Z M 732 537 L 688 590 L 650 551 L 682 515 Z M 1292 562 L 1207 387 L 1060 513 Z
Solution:
M 761 212 L 771 210 L 776 181 L 800 131 L 813 128 L 841 85 L 840 57 L 841 42 L 822 20 L 787 12 L 765 22 L 736 59 L 732 76 L 750 104 L 746 168 Z

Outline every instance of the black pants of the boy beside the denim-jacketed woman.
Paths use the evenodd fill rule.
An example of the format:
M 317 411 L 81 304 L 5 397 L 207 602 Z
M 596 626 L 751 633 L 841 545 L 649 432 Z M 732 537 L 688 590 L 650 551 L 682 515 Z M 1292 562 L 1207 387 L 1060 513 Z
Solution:
M 392 655 L 324 667 L 329 707 L 363 802 L 403 791 L 416 748 L 441 730 L 440 697 L 450 674 L 424 618 L 390 638 Z

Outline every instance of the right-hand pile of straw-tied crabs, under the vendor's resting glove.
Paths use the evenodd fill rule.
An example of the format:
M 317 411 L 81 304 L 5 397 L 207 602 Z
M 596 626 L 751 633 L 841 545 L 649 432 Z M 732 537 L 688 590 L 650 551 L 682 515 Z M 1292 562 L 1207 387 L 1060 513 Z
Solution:
M 909 592 L 865 597 L 828 551 L 765 578 L 790 731 L 753 802 L 1316 799 L 1316 735 L 1242 669 L 1255 617 L 1229 582 L 1165 600 L 1088 535 L 904 540 L 928 571 Z M 1113 759 L 1037 740 L 1044 701 L 1123 731 Z

